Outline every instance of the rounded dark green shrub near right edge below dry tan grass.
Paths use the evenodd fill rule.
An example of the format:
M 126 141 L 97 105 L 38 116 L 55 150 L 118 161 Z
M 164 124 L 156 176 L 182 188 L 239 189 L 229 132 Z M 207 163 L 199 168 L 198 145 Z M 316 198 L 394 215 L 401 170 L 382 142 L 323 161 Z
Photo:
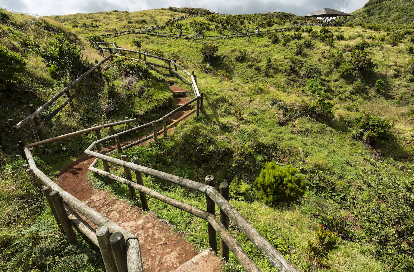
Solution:
M 371 112 L 364 112 L 354 119 L 353 136 L 369 144 L 379 144 L 391 139 L 391 124 Z

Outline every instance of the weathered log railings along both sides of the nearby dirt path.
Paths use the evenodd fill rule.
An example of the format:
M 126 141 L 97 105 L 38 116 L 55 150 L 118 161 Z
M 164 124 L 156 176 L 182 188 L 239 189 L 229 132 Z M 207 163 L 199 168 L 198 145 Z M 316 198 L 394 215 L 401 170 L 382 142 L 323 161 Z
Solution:
M 181 78 L 184 82 L 190 84 L 193 88 L 195 98 L 188 101 L 186 104 L 174 109 L 173 111 L 167 113 L 165 116 L 162 116 L 158 120 L 154 120 L 152 122 L 138 125 L 133 128 L 127 128 L 127 130 L 115 133 L 114 127 L 118 125 L 127 124 L 130 126 L 131 123 L 138 121 L 137 118 L 131 118 L 126 120 L 121 120 L 118 122 L 110 122 L 104 125 L 94 125 L 92 128 L 87 128 L 84 130 L 79 130 L 75 132 L 71 132 L 65 135 L 60 135 L 57 137 L 53 137 L 50 139 L 40 139 L 40 141 L 33 141 L 32 143 L 26 144 L 26 141 L 29 140 L 30 137 L 33 137 L 34 134 L 39 135 L 39 131 L 41 128 L 46 125 L 46 123 L 53 118 L 45 118 L 39 125 L 36 126 L 34 130 L 32 130 L 28 135 L 25 137 L 19 137 L 19 145 L 22 146 L 22 151 L 24 152 L 25 158 L 29 162 L 29 167 L 26 171 L 31 175 L 33 182 L 37 183 L 37 178 L 39 178 L 45 187 L 42 188 L 43 192 L 45 193 L 46 199 L 48 200 L 53 215 L 58 223 L 58 226 L 64 231 L 65 235 L 67 236 L 68 241 L 71 244 L 77 243 L 77 238 L 75 233 L 73 232 L 72 226 L 76 226 L 79 231 L 85 234 L 96 246 L 99 247 L 101 250 L 101 255 L 103 258 L 104 265 L 106 267 L 106 271 L 125 271 L 125 267 L 127 267 L 128 272 L 142 272 L 142 260 L 140 255 L 140 245 L 139 241 L 136 236 L 125 229 L 121 228 L 114 222 L 110 221 L 103 215 L 96 212 L 91 207 L 87 206 L 76 197 L 70 195 L 65 190 L 60 188 L 56 183 L 54 183 L 48 176 L 46 176 L 39 168 L 37 168 L 36 163 L 34 161 L 33 155 L 31 154 L 30 148 L 35 148 L 36 152 L 38 152 L 39 156 L 41 156 L 41 145 L 48 144 L 51 142 L 60 141 L 65 138 L 73 137 L 76 135 L 95 132 L 96 134 L 96 141 L 92 142 L 89 147 L 85 150 L 84 153 L 94 156 L 96 159 L 94 162 L 89 166 L 89 170 L 100 174 L 102 176 L 106 176 L 107 181 L 117 181 L 120 183 L 124 183 L 129 186 L 130 195 L 133 199 L 138 199 L 135 194 L 135 190 L 139 191 L 140 200 L 142 203 L 142 208 L 148 209 L 146 195 L 154 197 L 157 200 L 161 200 L 173 207 L 178 209 L 182 209 L 185 212 L 193 214 L 197 217 L 205 219 L 208 222 L 208 236 L 209 236 L 209 245 L 210 247 L 217 253 L 217 240 L 216 235 L 219 234 L 220 237 L 220 245 L 221 245 L 221 257 L 224 260 L 229 259 L 229 250 L 233 252 L 236 258 L 239 260 L 241 265 L 245 267 L 248 272 L 259 272 L 260 269 L 255 265 L 255 263 L 250 259 L 250 257 L 244 252 L 243 248 L 236 242 L 236 240 L 231 236 L 228 231 L 229 226 L 229 219 L 233 221 L 233 223 L 246 235 L 246 237 L 262 252 L 262 254 L 269 260 L 274 267 L 276 267 L 281 272 L 298 272 L 298 270 L 291 265 L 291 263 L 284 258 L 282 254 L 280 254 L 237 210 L 232 207 L 229 203 L 229 185 L 228 183 L 221 183 L 220 184 L 220 193 L 214 189 L 214 177 L 207 176 L 205 178 L 205 183 L 198 183 L 196 181 L 191 181 L 186 178 L 182 178 L 179 176 L 174 176 L 168 173 L 164 173 L 158 171 L 156 169 L 148 168 L 145 166 L 141 166 L 139 164 L 138 158 L 133 158 L 132 162 L 129 162 L 129 159 L 126 155 L 121 156 L 120 159 L 113 158 L 108 156 L 112 154 L 112 152 L 105 153 L 105 151 L 101 148 L 102 145 L 108 141 L 115 141 L 117 146 L 117 151 L 119 153 L 123 153 L 123 150 L 128 149 L 132 146 L 135 146 L 141 142 L 154 138 L 154 141 L 158 141 L 159 135 L 164 135 L 164 137 L 168 137 L 167 130 L 172 126 L 178 124 L 181 120 L 188 117 L 190 114 L 197 111 L 197 116 L 199 115 L 200 111 L 203 109 L 203 94 L 200 93 L 198 86 L 197 86 L 197 76 L 194 73 L 190 73 L 185 70 L 183 67 L 178 65 L 176 61 L 170 60 L 168 58 L 162 58 L 155 55 L 150 55 L 145 52 L 140 51 L 132 51 L 128 49 L 119 48 L 116 43 L 112 43 L 112 49 L 115 53 L 112 53 L 112 49 L 110 47 L 106 47 L 108 49 L 104 49 L 101 45 L 109 46 L 110 43 L 93 43 L 96 51 L 103 55 L 103 52 L 110 53 L 109 56 L 103 58 L 103 60 L 96 65 L 94 65 L 90 70 L 88 70 L 85 74 L 89 74 L 94 70 L 98 70 L 100 65 L 102 65 L 105 61 L 110 60 L 114 54 L 120 54 L 121 51 L 135 53 L 138 54 L 139 61 L 146 63 L 147 65 L 154 65 L 158 67 L 162 67 L 168 69 L 168 72 L 179 78 Z M 148 62 L 147 57 L 155 58 L 157 61 L 163 61 L 166 64 L 161 65 L 159 63 Z M 97 62 L 97 61 L 96 61 Z M 111 64 L 112 65 L 112 64 Z M 168 66 L 167 66 L 168 65 Z M 173 66 L 173 67 L 172 67 Z M 109 67 L 109 66 L 107 66 Z M 105 69 L 104 69 L 105 70 Z M 181 75 L 181 71 L 184 75 Z M 101 73 L 99 71 L 99 73 Z M 51 100 L 46 102 L 43 106 L 41 106 L 36 111 L 25 118 L 24 120 L 20 121 L 17 124 L 12 126 L 13 131 L 19 131 L 24 125 L 29 123 L 31 120 L 34 121 L 36 124 L 36 118 L 39 117 L 39 114 L 51 106 L 51 104 L 56 101 L 60 96 L 66 93 L 70 88 L 76 86 L 75 84 L 79 82 L 82 78 L 86 75 L 83 74 L 77 79 L 73 80 L 70 84 L 67 85 L 62 91 L 60 91 L 56 96 L 54 96 Z M 189 79 L 187 78 L 189 77 Z M 70 96 L 68 94 L 68 96 Z M 76 95 L 71 95 L 70 97 L 75 97 Z M 72 98 L 73 99 L 73 98 Z M 187 115 L 181 117 L 180 119 L 174 121 L 170 125 L 167 125 L 167 118 L 171 116 L 173 113 L 181 110 L 183 107 L 188 106 L 192 103 L 196 102 L 197 107 L 190 111 Z M 66 106 L 67 103 L 64 105 Z M 63 106 L 63 107 L 64 107 Z M 62 108 L 63 108 L 62 107 Z M 60 107 L 59 107 L 60 108 Z M 60 108 L 60 110 L 62 109 Z M 37 121 L 39 122 L 39 120 Z M 14 122 L 12 122 L 14 123 Z M 157 129 L 157 124 L 162 123 L 162 129 Z M 43 125 L 42 125 L 43 124 Z M 120 137 L 130 135 L 131 133 L 135 133 L 139 130 L 143 130 L 145 128 L 152 127 L 152 135 L 148 135 L 143 139 L 137 140 L 130 144 L 127 144 L 121 147 L 120 144 Z M 109 136 L 101 139 L 100 130 L 108 128 Z M 30 135 L 30 136 L 29 136 Z M 40 136 L 39 136 L 40 137 Z M 93 149 L 96 148 L 98 152 L 94 152 Z M 99 160 L 103 162 L 103 170 L 96 168 L 96 164 Z M 120 176 L 116 176 L 110 173 L 109 163 L 115 164 L 118 166 L 123 166 L 125 171 L 125 177 L 122 178 Z M 135 176 L 137 177 L 137 181 L 132 181 L 130 171 L 135 171 Z M 175 200 L 171 197 L 167 197 L 162 195 L 159 192 L 151 190 L 145 187 L 142 183 L 142 173 L 151 175 L 157 178 L 164 179 L 171 183 L 175 183 L 178 185 L 182 185 L 185 188 L 195 190 L 200 193 L 204 193 L 206 195 L 206 202 L 207 202 L 207 211 L 199 209 L 197 207 L 188 205 L 184 202 Z M 37 178 L 36 178 L 37 177 Z M 66 203 L 64 203 L 64 202 Z M 215 205 L 219 206 L 220 208 L 220 220 L 217 219 L 215 215 Z M 87 219 L 91 222 L 99 226 L 99 229 L 95 232 L 87 222 L 83 221 L 77 216 L 77 213 L 84 215 Z M 111 235 L 112 233 L 112 235 Z

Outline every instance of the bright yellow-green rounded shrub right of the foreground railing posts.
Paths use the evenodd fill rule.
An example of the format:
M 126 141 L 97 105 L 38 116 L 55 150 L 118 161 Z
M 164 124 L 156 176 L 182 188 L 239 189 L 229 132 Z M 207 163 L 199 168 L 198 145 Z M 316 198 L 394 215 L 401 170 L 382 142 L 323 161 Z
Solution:
M 291 165 L 279 166 L 274 161 L 265 164 L 253 185 L 259 190 L 260 200 L 270 205 L 291 202 L 306 190 L 306 181 L 298 169 Z

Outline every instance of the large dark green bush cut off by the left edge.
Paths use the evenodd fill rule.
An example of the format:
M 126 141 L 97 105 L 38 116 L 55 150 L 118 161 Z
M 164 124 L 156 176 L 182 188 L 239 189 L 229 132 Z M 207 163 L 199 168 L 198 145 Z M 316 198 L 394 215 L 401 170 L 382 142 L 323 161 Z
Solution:
M 0 97 L 6 96 L 14 82 L 19 81 L 18 74 L 24 72 L 26 61 L 19 53 L 0 46 Z

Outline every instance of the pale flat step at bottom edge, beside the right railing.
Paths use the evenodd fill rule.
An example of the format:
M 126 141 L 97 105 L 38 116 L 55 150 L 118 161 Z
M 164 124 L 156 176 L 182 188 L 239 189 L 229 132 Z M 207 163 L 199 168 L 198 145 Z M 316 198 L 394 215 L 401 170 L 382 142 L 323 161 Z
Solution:
M 208 248 L 170 272 L 220 272 L 222 260 Z

